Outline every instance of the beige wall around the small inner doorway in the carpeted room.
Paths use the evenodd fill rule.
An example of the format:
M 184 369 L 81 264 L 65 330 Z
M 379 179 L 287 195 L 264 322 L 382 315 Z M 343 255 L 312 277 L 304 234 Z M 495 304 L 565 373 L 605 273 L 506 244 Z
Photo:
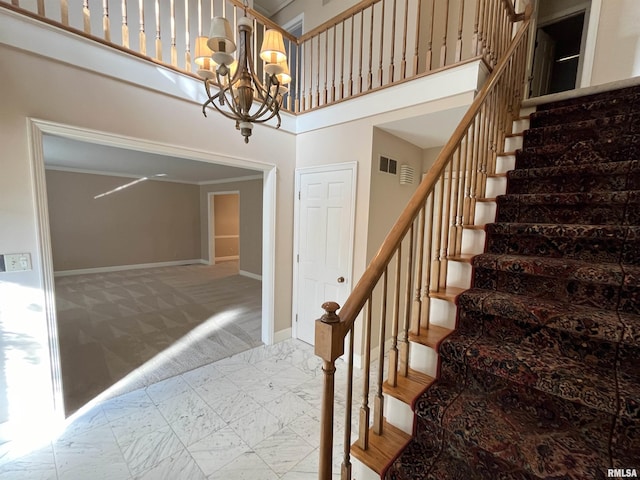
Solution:
M 293 187 L 292 187 L 293 188 Z M 200 221 L 202 222 L 201 258 L 209 259 L 208 194 L 238 192 L 240 202 L 240 270 L 262 275 L 262 180 L 215 183 L 200 187 Z M 286 220 L 286 219 L 285 219 Z M 289 221 L 292 221 L 289 219 Z M 291 227 L 289 227 L 291 229 Z M 289 281 L 289 285 L 291 282 Z M 284 328 L 284 327 L 283 327 Z

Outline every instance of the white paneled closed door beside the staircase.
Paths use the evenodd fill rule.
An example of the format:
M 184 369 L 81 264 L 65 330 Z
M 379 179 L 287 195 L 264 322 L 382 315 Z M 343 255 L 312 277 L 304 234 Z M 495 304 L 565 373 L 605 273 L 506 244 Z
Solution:
M 298 170 L 296 177 L 294 332 L 313 344 L 315 320 L 324 313 L 321 305 L 342 305 L 351 291 L 355 164 L 331 171 Z

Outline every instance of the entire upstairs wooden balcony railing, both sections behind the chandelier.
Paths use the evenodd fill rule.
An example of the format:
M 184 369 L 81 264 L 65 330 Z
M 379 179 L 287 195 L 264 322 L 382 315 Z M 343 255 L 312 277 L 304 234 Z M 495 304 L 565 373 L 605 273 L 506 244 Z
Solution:
M 196 38 L 208 35 L 210 19 L 235 26 L 245 8 L 238 0 L 0 0 L 0 7 L 194 77 Z M 471 59 L 492 68 L 519 19 L 513 0 L 364 0 L 296 38 L 250 8 L 247 15 L 254 52 L 268 28 L 283 34 L 292 76 L 283 108 L 292 113 Z

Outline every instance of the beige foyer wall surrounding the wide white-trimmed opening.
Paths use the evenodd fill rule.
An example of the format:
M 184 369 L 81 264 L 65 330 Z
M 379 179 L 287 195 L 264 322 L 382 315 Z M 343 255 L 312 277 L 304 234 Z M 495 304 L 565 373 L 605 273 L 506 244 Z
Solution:
M 94 56 L 106 54 L 103 50 L 104 47 L 97 47 Z M 167 89 L 179 85 L 184 92 L 193 94 L 202 88 L 200 82 L 186 76 L 172 79 L 172 73 L 153 64 L 132 58 L 126 61 L 128 70 L 142 69 L 145 78 L 165 82 Z M 246 145 L 233 122 L 221 115 L 203 118 L 200 102 L 187 100 L 186 93 L 183 98 L 169 96 L 5 45 L 0 45 L 0 71 L 0 252 L 28 252 L 33 265 L 26 272 L 0 273 L 0 336 L 24 339 L 24 347 L 11 355 L 3 352 L 0 403 L 5 410 L 0 418 L 0 441 L 11 438 L 3 434 L 11 425 L 22 425 L 24 430 L 31 428 L 25 425 L 34 424 L 34 432 L 44 432 L 41 425 L 51 419 L 54 409 L 51 361 L 55 358 L 55 336 L 47 325 L 45 264 L 40 255 L 42 232 L 36 216 L 29 117 L 106 132 L 114 141 L 119 137 L 140 139 L 203 156 L 215 153 L 227 162 L 241 157 L 253 162 L 255 168 L 260 165 L 270 169 L 275 165 L 279 175 L 273 197 L 278 212 L 274 259 L 278 268 L 273 272 L 272 284 L 274 331 L 290 328 L 293 135 L 257 126 Z M 47 72 L 47 88 L 42 86 L 41 72 Z M 224 141 L 220 141 L 222 137 Z M 9 426 L 3 426 L 4 421 L 10 422 Z

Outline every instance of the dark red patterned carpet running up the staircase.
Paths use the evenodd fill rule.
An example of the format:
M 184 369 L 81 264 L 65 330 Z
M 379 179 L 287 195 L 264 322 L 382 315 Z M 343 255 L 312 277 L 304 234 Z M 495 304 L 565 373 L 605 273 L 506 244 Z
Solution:
M 633 87 L 532 115 L 388 480 L 640 476 L 639 111 Z

